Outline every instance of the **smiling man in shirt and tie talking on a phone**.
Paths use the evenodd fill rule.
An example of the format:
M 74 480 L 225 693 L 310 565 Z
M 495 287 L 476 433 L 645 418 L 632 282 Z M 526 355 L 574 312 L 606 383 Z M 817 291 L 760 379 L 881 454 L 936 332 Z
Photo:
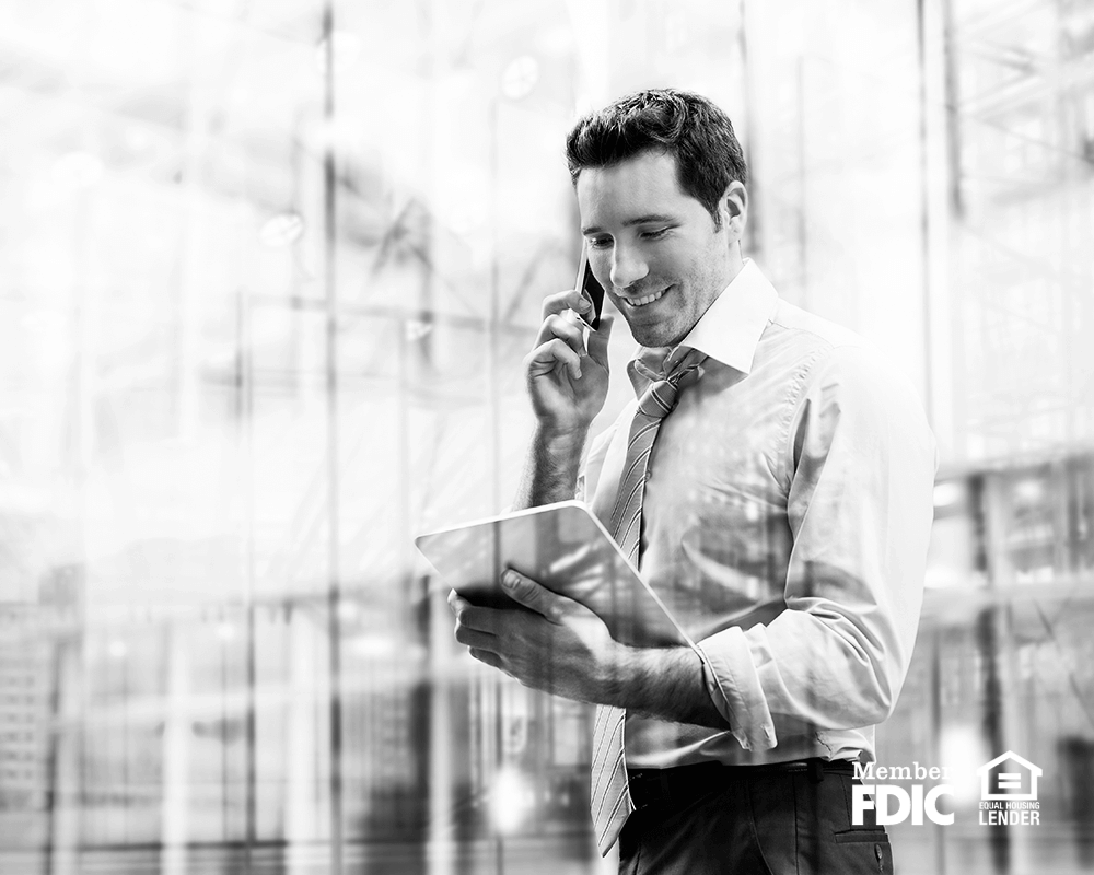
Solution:
M 873 759 L 918 626 L 935 450 L 915 393 L 743 257 L 747 170 L 709 101 L 625 97 L 567 154 L 593 272 L 642 345 L 638 400 L 582 463 L 610 322 L 586 350 L 568 311 L 587 304 L 549 296 L 517 503 L 583 497 L 697 645 L 624 646 L 513 572 L 531 610 L 453 594 L 456 639 L 602 705 L 592 807 L 621 871 L 891 871 L 884 830 L 850 822 L 850 772 Z

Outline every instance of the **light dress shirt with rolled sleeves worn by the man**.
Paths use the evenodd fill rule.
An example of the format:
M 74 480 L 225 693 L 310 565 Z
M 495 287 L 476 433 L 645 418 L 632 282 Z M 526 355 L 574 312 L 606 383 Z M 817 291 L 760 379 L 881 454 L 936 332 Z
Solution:
M 682 346 L 709 358 L 653 450 L 641 572 L 698 642 L 730 730 L 628 714 L 627 763 L 870 761 L 922 603 L 936 452 L 920 402 L 748 260 Z M 666 352 L 640 351 L 636 388 Z M 605 524 L 633 411 L 583 469 Z

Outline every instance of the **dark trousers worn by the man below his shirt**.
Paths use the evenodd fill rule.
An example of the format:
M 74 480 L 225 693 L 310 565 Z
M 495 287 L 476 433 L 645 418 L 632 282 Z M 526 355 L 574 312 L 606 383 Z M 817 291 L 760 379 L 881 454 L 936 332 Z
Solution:
M 892 875 L 884 827 L 851 826 L 852 782 L 850 766 L 819 760 L 791 771 L 688 766 L 632 781 L 640 807 L 619 837 L 620 875 Z

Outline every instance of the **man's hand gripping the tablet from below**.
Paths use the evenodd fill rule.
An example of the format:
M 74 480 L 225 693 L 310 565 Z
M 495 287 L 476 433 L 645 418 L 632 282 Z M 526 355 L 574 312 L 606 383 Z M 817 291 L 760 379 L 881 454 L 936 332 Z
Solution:
M 619 695 L 629 649 L 612 639 L 600 617 L 512 570 L 502 575 L 502 586 L 527 610 L 475 607 L 455 591 L 449 594 L 456 641 L 472 656 L 567 699 L 605 703 Z

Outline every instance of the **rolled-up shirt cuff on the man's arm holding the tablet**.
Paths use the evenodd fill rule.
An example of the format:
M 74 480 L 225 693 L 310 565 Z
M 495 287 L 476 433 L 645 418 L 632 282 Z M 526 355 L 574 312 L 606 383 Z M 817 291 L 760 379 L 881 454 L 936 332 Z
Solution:
M 697 643 L 695 650 L 702 661 L 707 692 L 737 744 L 745 750 L 770 750 L 778 745 L 775 721 L 744 632 L 737 627 L 723 629 Z

